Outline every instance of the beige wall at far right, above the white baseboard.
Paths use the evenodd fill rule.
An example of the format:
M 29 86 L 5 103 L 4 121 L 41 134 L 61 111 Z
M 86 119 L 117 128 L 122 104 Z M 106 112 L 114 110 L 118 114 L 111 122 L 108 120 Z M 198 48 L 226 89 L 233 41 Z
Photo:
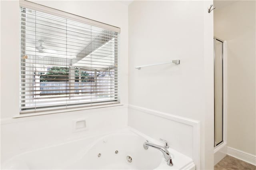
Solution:
M 230 3 L 230 2 L 229 2 Z M 227 144 L 256 155 L 256 2 L 214 11 L 214 36 L 227 41 Z

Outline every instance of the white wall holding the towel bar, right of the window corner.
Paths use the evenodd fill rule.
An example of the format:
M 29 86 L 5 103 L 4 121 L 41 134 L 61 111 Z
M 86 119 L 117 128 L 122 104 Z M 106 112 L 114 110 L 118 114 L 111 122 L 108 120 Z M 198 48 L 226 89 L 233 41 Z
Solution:
M 129 104 L 200 121 L 201 169 L 213 169 L 213 15 L 207 12 L 211 3 L 135 1 L 129 6 Z M 134 69 L 172 59 L 181 64 Z M 148 118 L 136 114 L 142 116 L 129 113 L 128 125 L 140 122 L 136 127 L 143 130 Z M 151 124 L 154 133 L 170 139 L 170 130 L 158 123 Z

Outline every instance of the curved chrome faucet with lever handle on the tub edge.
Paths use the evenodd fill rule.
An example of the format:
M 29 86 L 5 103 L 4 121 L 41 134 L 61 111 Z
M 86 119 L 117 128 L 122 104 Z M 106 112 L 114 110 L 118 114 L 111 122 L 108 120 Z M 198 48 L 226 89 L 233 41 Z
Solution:
M 160 138 L 160 140 L 165 142 L 164 146 L 149 143 L 148 140 L 147 140 L 146 142 L 144 142 L 143 147 L 144 147 L 144 149 L 148 149 L 148 146 L 150 146 L 152 148 L 156 148 L 157 150 L 160 150 L 164 154 L 164 160 L 167 162 L 167 165 L 173 166 L 172 157 L 170 155 L 170 152 L 167 150 L 167 148 L 169 148 L 168 142 L 166 140 L 161 139 L 161 138 Z

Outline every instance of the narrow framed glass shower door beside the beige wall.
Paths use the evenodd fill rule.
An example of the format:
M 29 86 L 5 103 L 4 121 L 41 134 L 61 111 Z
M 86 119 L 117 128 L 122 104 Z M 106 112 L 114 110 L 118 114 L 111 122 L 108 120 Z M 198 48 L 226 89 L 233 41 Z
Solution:
M 214 147 L 223 141 L 223 42 L 214 38 Z

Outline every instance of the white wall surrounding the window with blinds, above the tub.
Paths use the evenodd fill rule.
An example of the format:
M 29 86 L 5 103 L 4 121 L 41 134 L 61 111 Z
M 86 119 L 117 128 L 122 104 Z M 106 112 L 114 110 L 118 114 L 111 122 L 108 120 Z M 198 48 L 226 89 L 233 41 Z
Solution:
M 19 114 L 20 9 L 18 0 L 1 1 L 1 162 L 51 142 L 127 126 L 128 7 L 114 1 L 35 2 L 121 28 L 118 66 L 124 106 L 13 119 Z M 72 131 L 78 119 L 86 119 L 87 130 Z

